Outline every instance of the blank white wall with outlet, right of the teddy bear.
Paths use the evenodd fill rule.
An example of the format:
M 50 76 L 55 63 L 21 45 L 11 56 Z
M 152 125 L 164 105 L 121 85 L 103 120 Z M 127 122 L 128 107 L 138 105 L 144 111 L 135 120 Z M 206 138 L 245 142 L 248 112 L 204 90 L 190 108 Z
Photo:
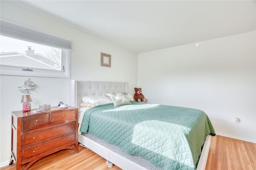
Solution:
M 255 39 L 253 31 L 140 53 L 138 86 L 149 103 L 201 109 L 217 134 L 256 143 Z

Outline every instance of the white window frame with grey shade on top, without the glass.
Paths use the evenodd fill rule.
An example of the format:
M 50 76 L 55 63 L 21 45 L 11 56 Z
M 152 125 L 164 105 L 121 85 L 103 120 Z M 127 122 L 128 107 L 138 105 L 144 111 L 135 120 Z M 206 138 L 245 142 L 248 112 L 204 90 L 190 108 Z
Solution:
M 46 34 L 40 31 L 36 31 L 34 29 L 30 29 L 28 27 L 24 27 L 16 23 L 11 23 L 9 21 L 0 20 L 0 22 L 1 22 L 1 25 L 0 25 L 1 35 L 62 49 L 61 70 L 47 70 L 47 69 L 31 67 L 31 68 L 28 68 L 28 70 L 31 69 L 32 71 L 28 71 L 28 70 L 22 70 L 22 69 L 27 69 L 24 67 L 0 65 L 0 75 L 70 78 L 71 41 L 68 41 L 66 39 L 62 39 L 50 34 Z M 6 24 L 7 26 L 5 26 L 4 24 L 2 25 L 2 23 Z M 10 29 L 9 27 L 11 27 L 14 30 L 17 28 L 17 30 L 21 30 L 20 32 L 23 31 L 23 34 L 16 35 L 14 31 L 8 30 Z M 26 37 L 26 33 L 30 33 L 30 31 L 34 36 L 36 36 L 35 39 L 33 39 L 33 37 L 32 39 L 24 38 Z M 48 39 L 44 39 L 44 37 L 47 37 Z M 47 44 L 47 43 L 50 43 L 50 44 Z

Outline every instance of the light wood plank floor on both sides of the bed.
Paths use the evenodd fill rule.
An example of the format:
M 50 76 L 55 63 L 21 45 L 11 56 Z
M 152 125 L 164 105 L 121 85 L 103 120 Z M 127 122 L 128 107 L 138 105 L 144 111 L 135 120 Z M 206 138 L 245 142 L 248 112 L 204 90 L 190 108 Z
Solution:
M 61 150 L 42 158 L 29 170 L 110 170 L 106 160 L 79 146 L 80 152 Z M 77 163 L 80 162 L 80 163 Z M 1 170 L 14 170 L 14 165 Z M 120 170 L 113 165 L 111 170 Z M 216 135 L 211 137 L 206 170 L 256 170 L 256 143 Z

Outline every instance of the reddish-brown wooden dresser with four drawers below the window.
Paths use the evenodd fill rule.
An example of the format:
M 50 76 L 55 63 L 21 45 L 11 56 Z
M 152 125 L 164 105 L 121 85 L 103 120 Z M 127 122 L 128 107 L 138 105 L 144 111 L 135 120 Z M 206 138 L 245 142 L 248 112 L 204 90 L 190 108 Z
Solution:
M 17 170 L 26 170 L 40 158 L 62 149 L 79 152 L 78 108 L 12 112 L 10 164 L 16 162 Z

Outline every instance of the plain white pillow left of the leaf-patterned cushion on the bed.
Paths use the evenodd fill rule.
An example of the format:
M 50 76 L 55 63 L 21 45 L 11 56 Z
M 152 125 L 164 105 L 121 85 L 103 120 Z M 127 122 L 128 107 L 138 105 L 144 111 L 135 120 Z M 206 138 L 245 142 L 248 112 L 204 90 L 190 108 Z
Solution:
M 100 106 L 102 104 L 112 103 L 112 100 L 110 100 L 106 96 L 84 96 L 83 102 L 87 104 L 92 104 L 92 107 L 95 107 Z

